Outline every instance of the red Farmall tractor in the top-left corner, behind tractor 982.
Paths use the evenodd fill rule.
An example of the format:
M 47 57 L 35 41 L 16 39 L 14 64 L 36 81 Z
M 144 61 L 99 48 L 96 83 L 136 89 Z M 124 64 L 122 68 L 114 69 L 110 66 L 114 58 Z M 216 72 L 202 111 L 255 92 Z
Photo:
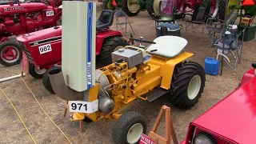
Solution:
M 15 37 L 57 26 L 62 9 L 44 3 L 0 5 L 0 63 L 14 66 L 22 60 L 22 49 Z

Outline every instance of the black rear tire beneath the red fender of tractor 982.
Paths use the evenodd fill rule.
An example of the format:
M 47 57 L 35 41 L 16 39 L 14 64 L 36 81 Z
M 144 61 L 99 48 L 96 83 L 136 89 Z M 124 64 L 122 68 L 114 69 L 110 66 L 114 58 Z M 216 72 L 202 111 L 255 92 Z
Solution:
M 106 39 L 102 46 L 102 51 L 100 54 L 100 60 L 103 66 L 110 65 L 112 63 L 111 53 L 118 47 L 118 46 L 129 46 L 129 43 L 126 39 L 122 37 L 113 37 Z

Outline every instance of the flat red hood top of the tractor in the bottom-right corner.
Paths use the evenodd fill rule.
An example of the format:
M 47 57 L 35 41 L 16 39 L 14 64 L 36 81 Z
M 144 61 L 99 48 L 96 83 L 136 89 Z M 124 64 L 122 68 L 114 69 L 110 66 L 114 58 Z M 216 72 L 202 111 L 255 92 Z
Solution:
M 256 77 L 234 90 L 192 125 L 241 144 L 256 139 Z

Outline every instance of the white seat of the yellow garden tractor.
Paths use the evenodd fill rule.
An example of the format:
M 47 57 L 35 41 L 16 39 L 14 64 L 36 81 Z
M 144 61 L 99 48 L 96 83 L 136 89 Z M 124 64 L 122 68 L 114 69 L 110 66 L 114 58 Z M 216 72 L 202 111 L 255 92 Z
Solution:
M 165 58 L 174 58 L 182 52 L 187 44 L 185 38 L 169 35 L 155 38 L 153 42 L 156 42 L 156 44 L 149 46 L 146 51 L 150 54 L 159 55 Z M 150 52 L 150 50 L 157 51 Z

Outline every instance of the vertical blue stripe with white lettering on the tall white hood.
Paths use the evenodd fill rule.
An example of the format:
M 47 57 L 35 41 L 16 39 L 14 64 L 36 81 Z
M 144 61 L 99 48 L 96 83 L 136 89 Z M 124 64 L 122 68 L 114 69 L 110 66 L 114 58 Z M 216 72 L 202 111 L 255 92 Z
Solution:
M 88 2 L 88 17 L 87 17 L 87 89 L 92 87 L 91 72 L 92 72 L 92 22 L 93 22 L 93 3 Z

